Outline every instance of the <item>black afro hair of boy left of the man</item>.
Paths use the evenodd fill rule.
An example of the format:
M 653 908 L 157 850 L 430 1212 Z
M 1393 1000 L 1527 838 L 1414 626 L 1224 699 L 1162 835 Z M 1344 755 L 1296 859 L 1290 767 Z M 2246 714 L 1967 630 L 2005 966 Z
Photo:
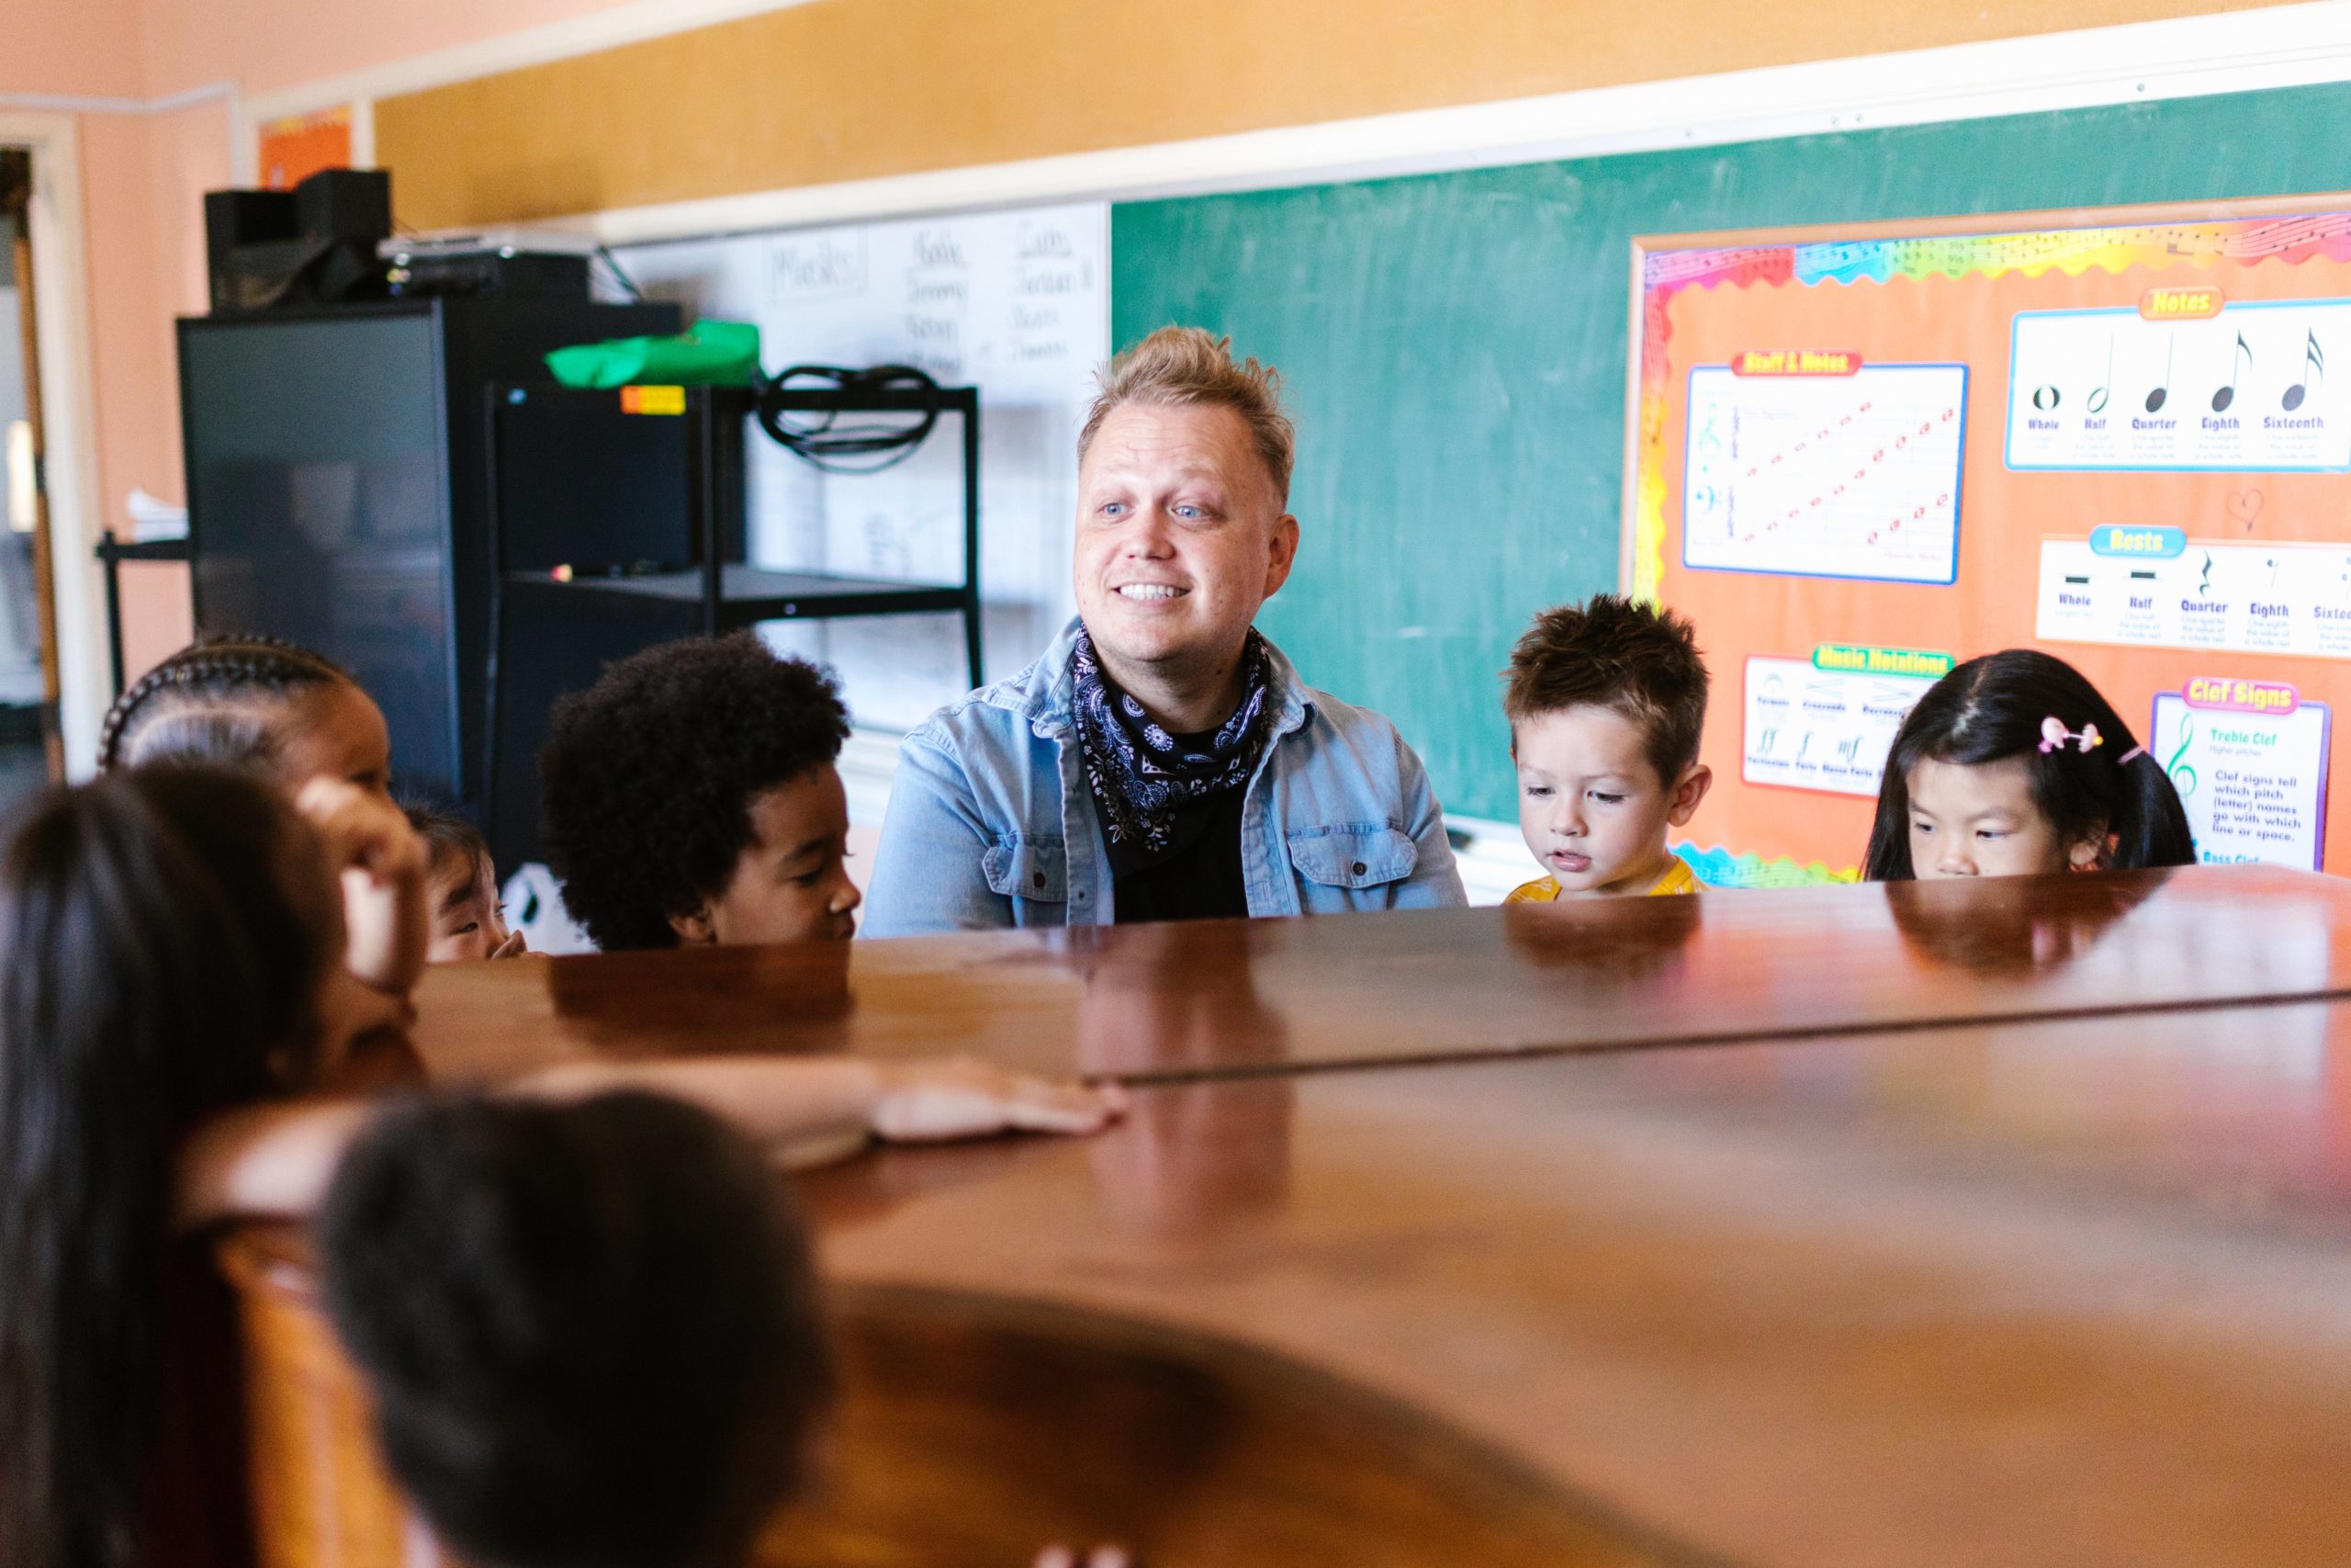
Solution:
M 555 703 L 538 755 L 541 837 L 564 907 L 597 947 L 675 947 L 672 914 L 726 889 L 764 790 L 849 738 L 832 677 L 755 632 L 691 637 Z

